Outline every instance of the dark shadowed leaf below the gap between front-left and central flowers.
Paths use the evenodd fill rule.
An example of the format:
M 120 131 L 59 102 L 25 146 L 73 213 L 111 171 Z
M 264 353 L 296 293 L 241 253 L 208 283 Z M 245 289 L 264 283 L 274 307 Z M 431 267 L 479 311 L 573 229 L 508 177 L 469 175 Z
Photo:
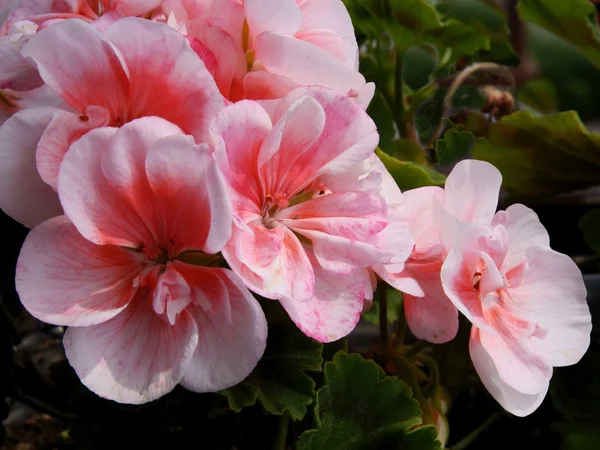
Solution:
M 254 371 L 237 386 L 221 391 L 239 412 L 257 400 L 272 414 L 286 410 L 300 420 L 313 402 L 315 382 L 304 371 L 320 371 L 323 345 L 306 337 L 291 321 L 269 328 L 267 349 Z

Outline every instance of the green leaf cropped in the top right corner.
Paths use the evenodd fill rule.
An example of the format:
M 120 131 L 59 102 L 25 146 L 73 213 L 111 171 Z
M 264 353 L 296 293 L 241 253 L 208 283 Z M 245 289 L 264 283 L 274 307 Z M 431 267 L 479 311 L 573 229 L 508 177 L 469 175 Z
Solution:
M 560 36 L 600 66 L 600 33 L 596 8 L 589 0 L 520 0 L 524 20 Z

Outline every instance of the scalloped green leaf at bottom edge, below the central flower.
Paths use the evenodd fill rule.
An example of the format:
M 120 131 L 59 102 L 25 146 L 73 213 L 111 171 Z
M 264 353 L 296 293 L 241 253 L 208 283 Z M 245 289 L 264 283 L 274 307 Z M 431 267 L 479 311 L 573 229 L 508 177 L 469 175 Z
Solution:
M 299 450 L 441 450 L 435 427 L 422 423 L 411 389 L 386 377 L 373 361 L 338 353 L 325 365 L 317 393 L 317 428 L 305 432 Z

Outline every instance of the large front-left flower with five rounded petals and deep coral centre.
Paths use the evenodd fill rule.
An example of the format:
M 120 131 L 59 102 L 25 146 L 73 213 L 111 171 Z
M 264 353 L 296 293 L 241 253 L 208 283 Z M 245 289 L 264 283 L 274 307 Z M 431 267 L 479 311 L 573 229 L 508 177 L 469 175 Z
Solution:
M 206 144 L 160 118 L 93 130 L 65 156 L 58 192 L 66 216 L 28 235 L 16 286 L 32 315 L 69 326 L 67 358 L 86 386 L 144 403 L 252 371 L 262 309 L 233 272 L 201 265 L 232 221 Z

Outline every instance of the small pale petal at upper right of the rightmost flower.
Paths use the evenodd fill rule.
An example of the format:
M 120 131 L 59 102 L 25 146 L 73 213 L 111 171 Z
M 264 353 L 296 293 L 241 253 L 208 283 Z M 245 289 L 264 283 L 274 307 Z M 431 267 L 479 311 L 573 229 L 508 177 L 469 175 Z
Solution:
M 503 225 L 508 234 L 510 245 L 502 264 L 504 270 L 510 270 L 520 264 L 529 247 L 550 247 L 548 232 L 540 223 L 537 214 L 525 205 L 514 204 L 506 211 L 498 211 L 492 224 Z

